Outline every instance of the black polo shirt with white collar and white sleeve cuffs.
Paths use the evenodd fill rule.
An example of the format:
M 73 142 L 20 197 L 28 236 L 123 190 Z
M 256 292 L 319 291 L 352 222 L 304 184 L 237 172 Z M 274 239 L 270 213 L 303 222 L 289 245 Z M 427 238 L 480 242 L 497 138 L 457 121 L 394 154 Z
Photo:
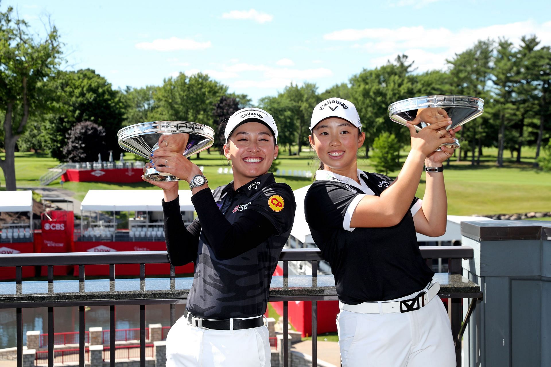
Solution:
M 421 256 L 412 210 L 396 226 L 349 227 L 352 211 L 361 198 L 381 195 L 392 182 L 379 173 L 359 171 L 358 177 L 361 185 L 347 177 L 318 171 L 305 197 L 306 221 L 323 258 L 331 265 L 339 299 L 354 305 L 420 291 L 434 272 Z M 419 201 L 413 199 L 413 211 L 420 207 Z

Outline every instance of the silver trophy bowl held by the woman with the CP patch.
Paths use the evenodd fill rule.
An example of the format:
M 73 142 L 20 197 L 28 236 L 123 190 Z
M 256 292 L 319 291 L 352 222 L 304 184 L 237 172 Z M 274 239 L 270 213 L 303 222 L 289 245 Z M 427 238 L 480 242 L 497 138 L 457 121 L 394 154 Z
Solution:
M 159 149 L 163 136 L 181 140 L 181 153 L 185 157 L 201 152 L 214 143 L 214 130 L 207 125 L 187 121 L 154 121 L 130 125 L 118 130 L 118 145 L 122 149 L 150 160 L 150 155 Z M 159 172 L 154 167 L 145 171 L 145 178 L 152 181 L 180 180 L 170 173 Z

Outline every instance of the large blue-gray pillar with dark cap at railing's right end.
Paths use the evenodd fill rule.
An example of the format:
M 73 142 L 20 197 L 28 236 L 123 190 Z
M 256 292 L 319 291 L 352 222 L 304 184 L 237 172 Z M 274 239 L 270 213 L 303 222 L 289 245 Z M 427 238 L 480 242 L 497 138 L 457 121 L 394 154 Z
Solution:
M 474 250 L 463 276 L 484 292 L 463 336 L 463 365 L 551 366 L 551 222 L 462 222 L 461 234 Z

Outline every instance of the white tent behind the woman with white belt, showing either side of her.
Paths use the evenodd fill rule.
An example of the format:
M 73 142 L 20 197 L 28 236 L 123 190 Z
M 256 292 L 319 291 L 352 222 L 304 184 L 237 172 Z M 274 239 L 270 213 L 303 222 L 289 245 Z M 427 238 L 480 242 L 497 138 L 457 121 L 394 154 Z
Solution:
M 304 215 L 304 197 L 306 192 L 310 188 L 310 185 L 294 190 L 296 200 L 296 213 L 295 220 L 293 222 L 293 228 L 291 229 L 291 235 L 298 239 L 302 243 L 314 243 L 312 234 L 308 223 L 306 223 L 306 217 Z M 417 233 L 417 240 L 419 242 L 439 242 L 439 241 L 455 241 L 461 240 L 461 222 L 466 221 L 488 221 L 491 218 L 487 217 L 467 217 L 459 215 L 447 216 L 446 233 L 439 237 L 428 237 L 424 234 Z

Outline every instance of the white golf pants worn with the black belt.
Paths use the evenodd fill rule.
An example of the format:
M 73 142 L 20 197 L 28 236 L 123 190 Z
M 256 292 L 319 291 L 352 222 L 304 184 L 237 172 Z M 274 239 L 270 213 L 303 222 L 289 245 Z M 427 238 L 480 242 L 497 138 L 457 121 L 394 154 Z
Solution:
M 204 330 L 182 316 L 166 336 L 166 367 L 269 367 L 268 328 Z

